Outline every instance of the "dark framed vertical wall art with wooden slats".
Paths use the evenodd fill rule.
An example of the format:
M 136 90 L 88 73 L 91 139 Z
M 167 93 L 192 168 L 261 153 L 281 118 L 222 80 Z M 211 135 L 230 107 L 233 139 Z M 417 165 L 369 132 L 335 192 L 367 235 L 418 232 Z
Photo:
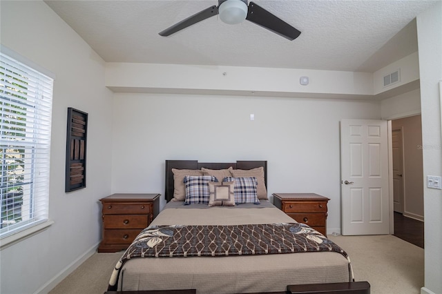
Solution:
M 88 114 L 68 108 L 65 192 L 86 187 Z

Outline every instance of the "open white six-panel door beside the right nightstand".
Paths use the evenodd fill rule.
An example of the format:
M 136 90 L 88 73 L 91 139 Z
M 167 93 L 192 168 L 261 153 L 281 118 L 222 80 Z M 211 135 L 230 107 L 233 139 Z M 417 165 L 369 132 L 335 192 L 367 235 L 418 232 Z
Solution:
M 387 121 L 340 121 L 342 234 L 390 233 Z

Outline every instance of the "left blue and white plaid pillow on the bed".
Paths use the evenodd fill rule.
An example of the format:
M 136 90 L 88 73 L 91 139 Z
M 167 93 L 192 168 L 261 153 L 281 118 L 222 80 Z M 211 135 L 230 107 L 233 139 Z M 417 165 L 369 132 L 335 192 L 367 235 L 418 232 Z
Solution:
M 209 182 L 218 182 L 218 180 L 211 175 L 184 176 L 184 186 L 186 186 L 184 205 L 209 204 Z

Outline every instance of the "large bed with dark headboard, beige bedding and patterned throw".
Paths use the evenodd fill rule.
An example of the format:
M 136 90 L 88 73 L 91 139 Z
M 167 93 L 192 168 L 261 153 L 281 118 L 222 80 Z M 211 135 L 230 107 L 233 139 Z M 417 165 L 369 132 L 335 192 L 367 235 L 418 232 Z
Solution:
M 177 186 L 182 185 L 180 176 L 193 173 L 192 170 L 196 175 L 184 176 L 186 189 L 191 189 L 189 181 L 197 178 L 223 178 L 224 182 L 211 181 L 212 198 L 209 204 L 215 203 L 215 206 L 205 202 L 185 205 L 189 197 L 182 201 L 182 195 L 178 195 Z M 233 187 L 237 197 L 238 187 L 235 185 L 246 179 L 252 182 L 257 179 L 251 184 L 251 190 L 256 188 L 256 192 L 252 192 L 256 193 L 259 204 L 256 198 L 240 199 L 239 202 L 244 202 L 241 204 L 238 204 L 238 198 L 232 198 Z M 223 186 L 224 183 L 231 185 L 229 189 Z M 200 163 L 194 160 L 166 160 L 164 197 L 167 204 L 135 239 L 134 243 L 137 244 L 133 243 L 123 254 L 115 267 L 108 291 L 196 289 L 196 293 L 286 293 L 288 285 L 352 284 L 354 277 L 347 253 L 325 236 L 301 226 L 273 206 L 267 199 L 267 191 L 262 193 L 266 185 L 267 161 Z M 213 189 L 218 188 L 229 191 L 227 196 L 219 195 L 231 197 L 222 200 L 221 205 L 231 205 L 232 199 L 235 199 L 236 205 L 219 206 L 216 196 L 213 202 Z M 284 234 L 290 235 L 295 231 L 296 234 L 301 231 L 307 233 L 298 234 L 302 235 L 302 242 L 291 240 L 289 243 L 287 239 L 290 238 Z M 212 239 L 207 241 L 209 235 L 212 235 Z M 226 239 L 231 242 L 231 236 L 238 238 L 238 235 L 248 235 L 250 239 L 254 236 L 258 241 L 252 244 L 236 239 L 236 244 L 240 240 L 240 244 L 250 246 L 236 249 L 234 247 L 237 245 L 229 249 L 223 247 Z M 170 244 L 166 245 L 169 241 Z M 212 245 L 204 246 L 204 242 L 212 242 Z M 294 250 L 294 243 L 299 243 L 303 250 Z M 322 251 L 319 246 L 326 249 Z M 209 248 L 206 250 L 209 253 L 200 249 L 203 247 Z M 293 253 L 295 251 L 301 252 Z

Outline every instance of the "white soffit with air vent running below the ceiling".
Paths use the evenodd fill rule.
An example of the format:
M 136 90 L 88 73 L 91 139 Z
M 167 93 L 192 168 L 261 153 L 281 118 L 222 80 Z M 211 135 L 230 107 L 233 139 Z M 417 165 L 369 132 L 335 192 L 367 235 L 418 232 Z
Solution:
M 105 85 L 114 92 L 242 95 L 382 100 L 419 88 L 419 63 L 412 54 L 378 72 L 287 68 L 191 66 L 157 63 L 106 63 Z M 401 68 L 402 79 L 379 88 L 382 72 Z M 416 74 L 417 72 L 417 74 Z M 300 77 L 308 77 L 307 85 Z

